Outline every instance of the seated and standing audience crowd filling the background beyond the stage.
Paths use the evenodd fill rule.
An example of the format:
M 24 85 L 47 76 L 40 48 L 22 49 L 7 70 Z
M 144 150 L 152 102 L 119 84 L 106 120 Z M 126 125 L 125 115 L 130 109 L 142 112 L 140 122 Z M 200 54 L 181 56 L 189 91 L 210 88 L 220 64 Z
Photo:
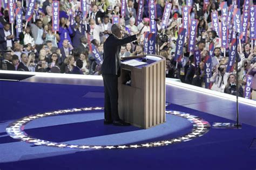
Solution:
M 141 1 L 141 0 L 139 0 Z M 111 34 L 113 16 L 119 16 L 119 25 L 123 36 L 131 36 L 142 30 L 142 34 L 150 32 L 149 1 L 144 1 L 143 21 L 137 23 L 138 0 L 127 0 L 125 16 L 121 16 L 120 0 L 87 1 L 87 15 L 83 16 L 80 2 L 77 0 L 62 0 L 59 2 L 59 31 L 52 31 L 52 0 L 37 1 L 32 19 L 26 24 L 24 18 L 28 1 L 18 0 L 16 9 L 23 11 L 23 30 L 18 35 L 12 33 L 9 23 L 9 9 L 3 8 L 0 16 L 0 50 L 2 54 L 1 69 L 28 72 L 51 72 L 66 74 L 100 75 L 101 65 L 96 61 L 91 44 L 95 45 L 99 55 L 103 55 L 103 44 Z M 22 4 L 23 2 L 23 4 Z M 172 3 L 170 19 L 167 27 L 162 29 L 166 3 Z M 227 48 L 221 47 L 221 39 L 211 25 L 211 13 L 219 13 L 221 20 L 220 0 L 192 1 L 190 16 L 198 19 L 195 50 L 201 54 L 201 60 L 195 65 L 193 52 L 187 51 L 187 40 L 184 43 L 183 59 L 185 62 L 174 60 L 179 29 L 183 26 L 183 6 L 185 0 L 156 1 L 157 39 L 159 55 L 166 58 L 166 77 L 180 79 L 181 82 L 205 88 L 205 57 L 209 53 L 210 43 L 214 44 L 212 55 L 211 89 L 224 93 L 244 96 L 246 75 L 252 75 L 252 99 L 256 99 L 256 45 L 252 44 L 250 33 L 247 33 L 246 43 L 238 45 L 238 68 L 227 73 Z M 244 0 L 238 1 L 234 8 L 241 8 Z M 227 0 L 227 5 L 233 1 Z M 250 5 L 255 4 L 250 1 Z M 14 24 L 14 30 L 17 25 Z M 248 32 L 250 29 L 248 27 Z M 120 48 L 120 57 L 142 55 L 144 36 L 138 37 L 138 44 L 128 43 Z M 225 54 L 224 54 L 225 52 Z M 234 65 L 235 67 L 236 65 Z M 236 77 L 238 70 L 238 82 Z

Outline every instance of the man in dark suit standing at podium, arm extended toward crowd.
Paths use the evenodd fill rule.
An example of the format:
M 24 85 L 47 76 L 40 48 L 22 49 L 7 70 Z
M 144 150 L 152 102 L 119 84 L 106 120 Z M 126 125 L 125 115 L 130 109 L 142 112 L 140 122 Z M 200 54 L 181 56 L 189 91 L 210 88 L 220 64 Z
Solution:
M 130 125 L 122 121 L 118 115 L 118 76 L 120 75 L 120 46 L 132 42 L 137 39 L 137 35 L 133 35 L 124 39 L 122 38 L 121 29 L 114 24 L 111 27 L 110 36 L 104 42 L 104 54 L 102 64 L 102 76 L 104 82 L 105 101 L 104 101 L 104 124 L 112 124 L 118 126 Z M 139 32 L 139 34 L 141 31 Z

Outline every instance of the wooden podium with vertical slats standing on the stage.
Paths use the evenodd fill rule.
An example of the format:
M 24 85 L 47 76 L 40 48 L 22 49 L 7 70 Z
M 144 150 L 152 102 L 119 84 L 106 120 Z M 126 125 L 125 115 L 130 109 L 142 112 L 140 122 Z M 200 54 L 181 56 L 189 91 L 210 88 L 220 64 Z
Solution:
M 139 128 L 165 123 L 165 58 L 146 55 L 147 65 L 121 63 L 118 79 L 118 112 L 121 119 Z M 131 85 L 125 83 L 131 80 Z

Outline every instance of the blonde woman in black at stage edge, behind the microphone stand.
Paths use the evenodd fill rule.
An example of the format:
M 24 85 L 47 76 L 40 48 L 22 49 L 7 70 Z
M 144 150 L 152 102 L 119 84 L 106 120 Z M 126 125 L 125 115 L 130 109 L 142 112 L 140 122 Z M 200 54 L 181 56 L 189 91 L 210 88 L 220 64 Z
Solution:
M 242 97 L 244 95 L 244 90 L 242 89 L 240 84 L 237 83 L 237 76 L 235 76 L 235 74 L 231 73 L 228 76 L 227 85 L 224 89 L 224 93 L 236 96 L 237 95 L 237 86 L 238 86 L 238 96 Z

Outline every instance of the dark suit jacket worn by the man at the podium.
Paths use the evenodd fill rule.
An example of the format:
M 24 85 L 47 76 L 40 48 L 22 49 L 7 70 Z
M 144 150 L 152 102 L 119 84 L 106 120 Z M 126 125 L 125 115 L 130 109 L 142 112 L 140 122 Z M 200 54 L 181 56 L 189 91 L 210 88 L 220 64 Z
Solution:
M 124 39 L 118 39 L 113 34 L 110 34 L 110 36 L 106 39 L 104 42 L 103 48 L 104 48 L 104 54 L 103 54 L 103 64 L 102 64 L 102 74 L 112 74 L 116 75 L 116 68 L 120 72 L 120 65 L 116 66 L 116 58 L 119 62 L 119 52 L 120 52 L 120 46 L 123 44 L 127 44 L 128 42 L 132 42 L 136 40 L 136 35 L 124 38 Z

